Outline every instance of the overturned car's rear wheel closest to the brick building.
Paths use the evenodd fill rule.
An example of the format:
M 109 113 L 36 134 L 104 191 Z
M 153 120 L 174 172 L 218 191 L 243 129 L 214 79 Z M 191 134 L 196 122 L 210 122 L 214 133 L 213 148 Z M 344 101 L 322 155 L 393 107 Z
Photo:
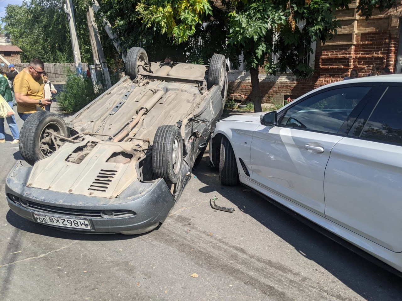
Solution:
M 222 99 L 226 100 L 228 96 L 228 73 L 226 72 L 225 56 L 222 54 L 214 54 L 211 57 L 208 69 L 208 89 L 213 85 L 218 85 L 221 90 Z

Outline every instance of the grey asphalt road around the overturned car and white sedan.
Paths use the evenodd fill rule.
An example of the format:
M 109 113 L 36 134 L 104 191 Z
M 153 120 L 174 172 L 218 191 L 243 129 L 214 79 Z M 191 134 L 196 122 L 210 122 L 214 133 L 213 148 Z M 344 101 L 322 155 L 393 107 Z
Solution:
M 24 220 L 4 196 L 6 175 L 21 159 L 7 126 L 6 134 L 1 301 L 402 300 L 402 279 L 244 187 L 222 187 L 206 157 L 165 223 L 148 234 L 71 234 Z M 236 211 L 212 209 L 213 196 Z

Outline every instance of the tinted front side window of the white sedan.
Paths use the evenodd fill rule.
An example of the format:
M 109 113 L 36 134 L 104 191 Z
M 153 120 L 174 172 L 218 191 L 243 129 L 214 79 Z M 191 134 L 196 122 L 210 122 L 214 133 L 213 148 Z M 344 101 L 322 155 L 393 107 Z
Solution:
M 342 87 L 316 94 L 287 110 L 279 125 L 337 133 L 371 86 Z

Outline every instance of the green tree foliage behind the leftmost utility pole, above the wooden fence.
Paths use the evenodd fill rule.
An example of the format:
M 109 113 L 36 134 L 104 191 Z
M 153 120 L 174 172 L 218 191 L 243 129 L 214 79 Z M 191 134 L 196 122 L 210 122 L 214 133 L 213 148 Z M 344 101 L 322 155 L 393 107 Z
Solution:
M 63 0 L 31 0 L 9 4 L 2 18 L 4 31 L 13 45 L 21 48 L 21 61 L 40 58 L 46 63 L 73 61 L 70 30 Z M 90 61 L 91 49 L 85 0 L 74 0 L 78 43 L 82 61 Z

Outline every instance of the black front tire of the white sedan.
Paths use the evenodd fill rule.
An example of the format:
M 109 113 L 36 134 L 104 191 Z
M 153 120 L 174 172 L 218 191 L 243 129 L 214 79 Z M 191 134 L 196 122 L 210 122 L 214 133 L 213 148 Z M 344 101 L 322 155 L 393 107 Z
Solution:
M 236 157 L 234 156 L 232 145 L 226 136 L 223 136 L 221 140 L 219 179 L 222 185 L 237 185 L 239 182 Z

